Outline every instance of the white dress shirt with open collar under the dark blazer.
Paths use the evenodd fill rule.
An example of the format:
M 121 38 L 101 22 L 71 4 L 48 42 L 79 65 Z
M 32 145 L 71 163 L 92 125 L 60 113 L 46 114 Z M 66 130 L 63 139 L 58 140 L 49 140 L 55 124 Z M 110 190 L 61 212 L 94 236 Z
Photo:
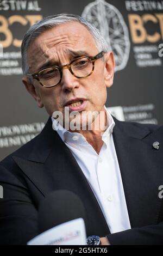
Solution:
M 106 109 L 106 130 L 99 155 L 83 135 L 70 132 L 52 118 L 53 129 L 70 148 L 95 194 L 111 233 L 130 229 L 130 221 L 124 196 L 120 167 L 115 151 L 112 130 L 115 122 Z M 58 129 L 60 127 L 60 129 Z M 96 212 L 95 212 L 96 214 Z

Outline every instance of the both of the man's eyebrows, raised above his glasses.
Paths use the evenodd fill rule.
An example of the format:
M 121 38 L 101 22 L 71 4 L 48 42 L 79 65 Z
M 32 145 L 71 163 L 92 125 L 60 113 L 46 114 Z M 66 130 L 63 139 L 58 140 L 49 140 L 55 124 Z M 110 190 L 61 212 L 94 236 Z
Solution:
M 82 57 L 82 56 L 89 56 L 89 53 L 86 52 L 86 51 L 68 50 L 68 56 L 69 56 L 70 59 L 73 59 L 73 58 L 75 59 L 75 58 Z M 53 62 L 52 60 L 49 60 L 45 64 L 39 66 L 38 70 L 46 69 L 46 68 L 48 68 L 49 66 L 52 66 L 52 65 L 60 66 L 59 64 L 61 64 L 61 63 L 58 63 L 58 62 L 55 62 L 55 61 Z

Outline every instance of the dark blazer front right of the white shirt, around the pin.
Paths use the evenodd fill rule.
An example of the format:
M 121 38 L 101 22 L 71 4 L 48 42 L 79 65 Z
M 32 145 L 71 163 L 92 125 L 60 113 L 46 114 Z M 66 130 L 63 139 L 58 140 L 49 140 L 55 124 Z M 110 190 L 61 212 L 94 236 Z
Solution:
M 153 142 L 163 145 L 163 128 L 151 133 L 146 127 L 115 119 L 115 149 L 121 170 L 124 194 L 131 228 L 158 222 L 161 200 L 159 186 L 163 182 L 163 147 L 156 150 Z

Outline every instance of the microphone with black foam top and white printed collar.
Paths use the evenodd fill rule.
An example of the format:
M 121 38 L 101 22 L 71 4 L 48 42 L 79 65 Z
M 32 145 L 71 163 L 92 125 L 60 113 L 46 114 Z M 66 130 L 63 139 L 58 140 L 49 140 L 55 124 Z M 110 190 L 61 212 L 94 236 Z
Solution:
M 85 209 L 71 191 L 54 191 L 39 206 L 39 235 L 27 245 L 86 245 Z

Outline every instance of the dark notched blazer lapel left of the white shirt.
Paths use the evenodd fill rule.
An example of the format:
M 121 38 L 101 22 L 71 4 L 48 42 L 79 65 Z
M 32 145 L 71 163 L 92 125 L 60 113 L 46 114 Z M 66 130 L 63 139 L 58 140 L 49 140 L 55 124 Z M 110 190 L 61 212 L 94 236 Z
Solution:
M 69 190 L 79 196 L 86 210 L 87 235 L 110 234 L 95 195 L 70 149 L 52 129 L 51 119 L 28 159 L 14 156 L 14 160 L 43 196 L 55 190 Z

